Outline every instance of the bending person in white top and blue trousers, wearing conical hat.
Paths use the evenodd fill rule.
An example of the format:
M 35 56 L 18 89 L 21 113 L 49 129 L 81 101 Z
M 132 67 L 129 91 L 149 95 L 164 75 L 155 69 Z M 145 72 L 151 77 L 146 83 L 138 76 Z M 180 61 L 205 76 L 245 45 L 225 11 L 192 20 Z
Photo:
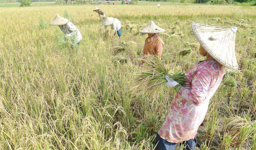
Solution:
M 112 30 L 115 30 L 117 32 L 117 35 L 119 36 L 119 38 L 121 39 L 122 36 L 122 28 L 121 28 L 121 22 L 113 17 L 106 17 L 103 21 L 102 21 L 102 25 L 104 25 L 105 28 L 107 28 L 108 26 L 111 26 Z M 116 32 L 114 34 L 114 36 L 116 35 Z

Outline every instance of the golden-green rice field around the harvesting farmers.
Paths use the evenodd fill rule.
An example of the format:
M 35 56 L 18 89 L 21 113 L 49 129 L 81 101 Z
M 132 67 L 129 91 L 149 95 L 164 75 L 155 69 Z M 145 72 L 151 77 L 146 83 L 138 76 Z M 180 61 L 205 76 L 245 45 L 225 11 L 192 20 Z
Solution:
M 211 98 L 197 148 L 256 149 L 256 7 L 118 3 L 97 7 L 121 21 L 122 45 L 117 35 L 105 38 L 95 5 L 0 5 L 0 149 L 153 149 L 175 91 L 164 86 L 152 98 L 130 90 L 147 37 L 138 31 L 150 20 L 166 29 L 170 72 L 204 59 L 192 22 L 238 27 L 239 70 L 227 70 Z M 80 30 L 79 47 L 48 26 L 56 14 Z

